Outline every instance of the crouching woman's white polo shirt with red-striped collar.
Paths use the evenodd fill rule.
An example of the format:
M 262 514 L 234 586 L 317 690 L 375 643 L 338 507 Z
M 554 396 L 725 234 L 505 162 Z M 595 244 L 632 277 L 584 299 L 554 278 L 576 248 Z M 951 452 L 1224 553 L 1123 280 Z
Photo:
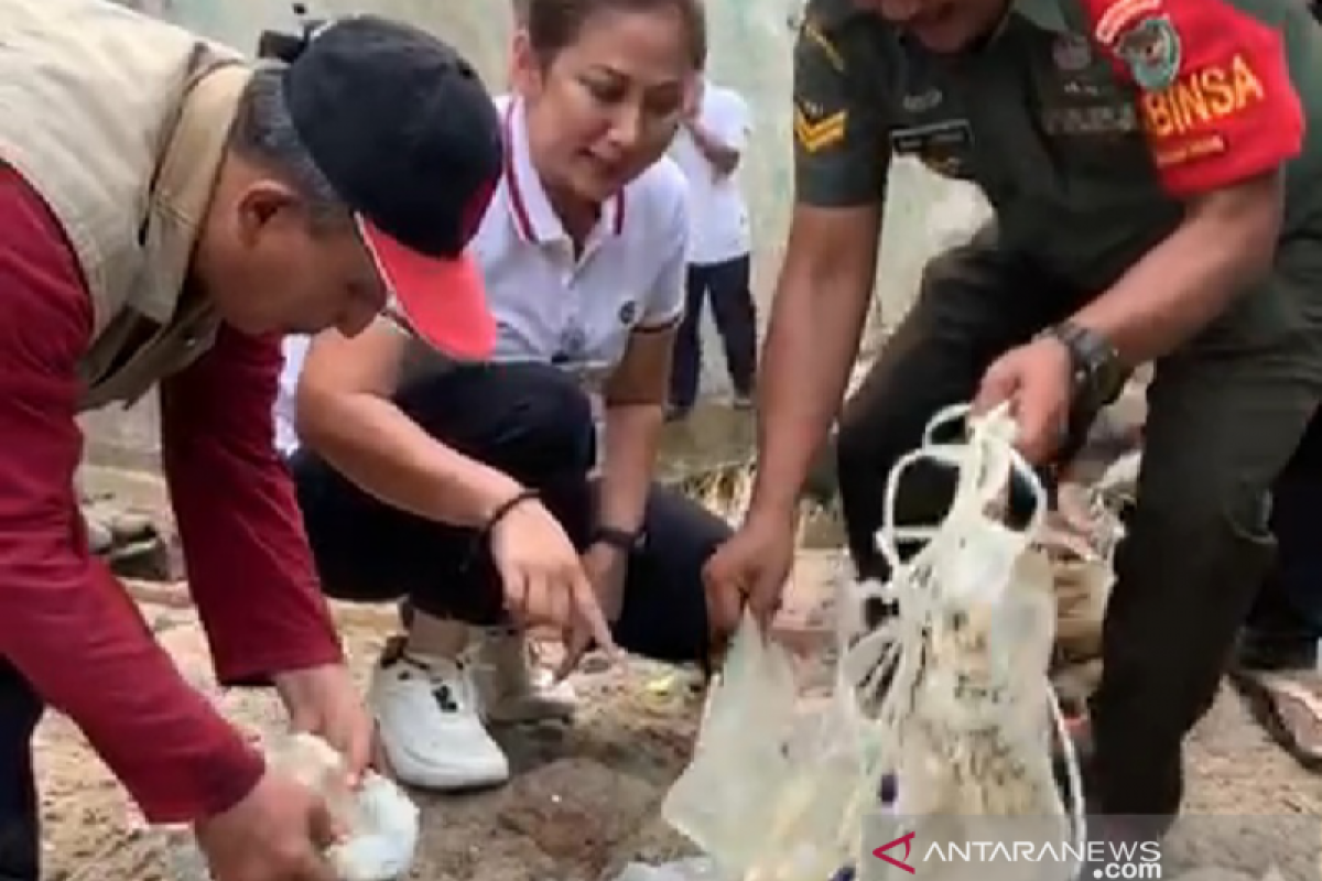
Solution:
M 501 96 L 496 104 L 505 120 L 505 172 L 469 244 L 497 325 L 492 359 L 561 366 L 579 378 L 600 412 L 600 387 L 629 337 L 665 330 L 683 316 L 687 185 L 662 157 L 602 206 L 575 255 L 529 157 L 522 102 Z M 282 450 L 293 448 L 292 395 L 307 349 L 297 339 L 284 345 L 275 411 Z M 403 374 L 446 367 L 418 342 L 408 347 Z

